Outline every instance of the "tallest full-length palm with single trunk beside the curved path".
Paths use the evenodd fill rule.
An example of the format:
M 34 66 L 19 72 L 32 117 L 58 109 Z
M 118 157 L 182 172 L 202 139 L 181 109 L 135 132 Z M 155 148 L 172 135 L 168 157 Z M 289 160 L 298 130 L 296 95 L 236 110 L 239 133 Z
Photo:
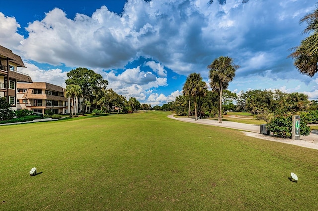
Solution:
M 222 123 L 222 90 L 226 89 L 233 80 L 239 65 L 234 65 L 230 57 L 220 56 L 208 65 L 208 68 L 210 86 L 213 90 L 219 91 L 219 123 Z

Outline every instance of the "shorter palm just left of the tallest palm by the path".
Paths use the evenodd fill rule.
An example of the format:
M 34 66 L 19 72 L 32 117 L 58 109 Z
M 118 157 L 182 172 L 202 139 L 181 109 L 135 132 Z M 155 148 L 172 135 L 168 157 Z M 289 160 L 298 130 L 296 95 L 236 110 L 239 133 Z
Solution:
M 203 96 L 205 91 L 207 90 L 206 83 L 202 81 L 202 77 L 200 76 L 200 73 L 191 73 L 183 88 L 185 89 L 184 95 L 187 95 L 189 99 L 191 97 L 194 98 L 194 113 L 195 113 L 195 120 L 198 120 L 197 117 L 197 97 Z M 189 100 L 190 105 L 190 100 Z M 190 107 L 190 106 L 189 106 Z

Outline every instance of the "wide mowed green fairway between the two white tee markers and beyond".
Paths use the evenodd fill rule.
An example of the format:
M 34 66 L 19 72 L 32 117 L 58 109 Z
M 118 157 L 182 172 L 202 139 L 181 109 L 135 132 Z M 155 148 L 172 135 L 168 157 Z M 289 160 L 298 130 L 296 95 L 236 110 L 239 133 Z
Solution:
M 1 126 L 0 210 L 317 210 L 318 150 L 168 114 Z

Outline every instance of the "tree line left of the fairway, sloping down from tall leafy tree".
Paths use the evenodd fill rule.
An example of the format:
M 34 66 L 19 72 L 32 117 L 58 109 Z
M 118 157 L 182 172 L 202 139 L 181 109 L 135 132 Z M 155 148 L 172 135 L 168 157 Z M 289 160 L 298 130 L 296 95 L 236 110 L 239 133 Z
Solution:
M 67 73 L 68 79 L 65 80 L 65 96 L 72 99 L 70 116 L 77 114 L 78 99 L 81 97 L 83 114 L 86 107 L 107 112 L 132 113 L 139 109 L 151 109 L 151 105 L 140 104 L 134 97 L 129 100 L 117 94 L 113 89 L 107 88 L 108 81 L 87 68 L 76 68 Z

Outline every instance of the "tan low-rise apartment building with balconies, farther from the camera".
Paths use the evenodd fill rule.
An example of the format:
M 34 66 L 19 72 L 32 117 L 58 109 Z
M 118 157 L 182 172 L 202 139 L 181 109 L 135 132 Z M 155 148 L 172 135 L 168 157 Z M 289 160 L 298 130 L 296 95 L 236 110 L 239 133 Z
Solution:
M 43 114 L 68 113 L 64 89 L 47 82 L 18 83 L 17 99 L 17 109 Z

